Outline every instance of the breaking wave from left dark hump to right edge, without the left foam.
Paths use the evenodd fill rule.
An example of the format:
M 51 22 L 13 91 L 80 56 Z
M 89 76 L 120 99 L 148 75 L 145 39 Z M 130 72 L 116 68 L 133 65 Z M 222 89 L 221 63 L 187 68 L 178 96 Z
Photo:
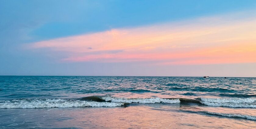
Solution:
M 86 101 L 97 101 L 97 102 L 115 102 L 115 103 L 170 103 L 170 104 L 204 104 L 208 106 L 223 106 L 223 107 L 248 107 L 255 108 L 256 99 L 251 98 L 196 98 L 196 99 L 186 99 L 186 98 L 123 98 L 123 97 L 111 97 L 111 96 L 90 96 L 83 97 L 80 100 Z M 248 104 L 250 103 L 250 104 Z

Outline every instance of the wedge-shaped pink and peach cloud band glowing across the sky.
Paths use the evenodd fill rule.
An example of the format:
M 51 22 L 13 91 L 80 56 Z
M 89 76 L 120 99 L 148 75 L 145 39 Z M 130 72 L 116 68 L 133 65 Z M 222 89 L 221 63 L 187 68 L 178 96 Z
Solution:
M 220 64 L 256 62 L 256 18 L 242 14 L 198 18 L 63 37 L 29 45 L 67 55 L 69 62 Z

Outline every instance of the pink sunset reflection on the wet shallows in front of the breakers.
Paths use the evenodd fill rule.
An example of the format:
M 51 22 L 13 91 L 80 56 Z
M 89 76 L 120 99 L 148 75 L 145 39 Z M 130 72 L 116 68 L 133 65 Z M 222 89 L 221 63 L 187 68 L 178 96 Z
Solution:
M 252 128 L 254 121 L 209 116 L 179 111 L 202 111 L 201 107 L 179 104 L 145 104 L 130 107 L 79 108 L 65 111 L 67 121 L 55 122 L 61 127 L 79 128 Z M 55 110 L 57 111 L 57 110 Z M 215 110 L 216 111 L 216 110 Z

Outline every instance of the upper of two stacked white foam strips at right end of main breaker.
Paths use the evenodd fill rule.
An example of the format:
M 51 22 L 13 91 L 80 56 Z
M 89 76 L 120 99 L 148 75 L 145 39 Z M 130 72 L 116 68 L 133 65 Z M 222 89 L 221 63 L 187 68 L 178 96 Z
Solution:
M 256 101 L 251 98 L 201 98 L 201 100 L 211 103 L 253 103 Z

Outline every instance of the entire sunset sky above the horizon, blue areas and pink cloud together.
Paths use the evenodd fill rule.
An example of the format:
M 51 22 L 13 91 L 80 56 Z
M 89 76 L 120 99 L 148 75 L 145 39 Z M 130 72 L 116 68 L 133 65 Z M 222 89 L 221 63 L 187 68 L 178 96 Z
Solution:
M 0 75 L 256 77 L 256 1 L 0 0 Z

